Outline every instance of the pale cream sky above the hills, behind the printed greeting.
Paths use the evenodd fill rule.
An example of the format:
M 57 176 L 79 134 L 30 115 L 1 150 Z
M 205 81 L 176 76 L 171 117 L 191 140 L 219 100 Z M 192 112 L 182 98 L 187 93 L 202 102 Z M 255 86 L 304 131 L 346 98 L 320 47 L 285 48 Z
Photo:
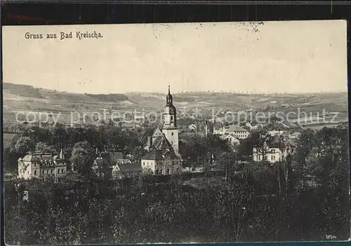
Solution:
M 77 39 L 94 31 L 102 38 Z M 3 81 L 94 94 L 346 91 L 346 21 L 7 26 Z

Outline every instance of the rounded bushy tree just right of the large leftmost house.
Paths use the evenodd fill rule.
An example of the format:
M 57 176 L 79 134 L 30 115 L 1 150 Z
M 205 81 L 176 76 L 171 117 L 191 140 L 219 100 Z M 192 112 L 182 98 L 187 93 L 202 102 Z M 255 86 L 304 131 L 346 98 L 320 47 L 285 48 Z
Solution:
M 71 162 L 74 165 L 74 170 L 79 174 L 84 176 L 89 175 L 94 159 L 95 151 L 87 141 L 77 142 L 74 145 Z

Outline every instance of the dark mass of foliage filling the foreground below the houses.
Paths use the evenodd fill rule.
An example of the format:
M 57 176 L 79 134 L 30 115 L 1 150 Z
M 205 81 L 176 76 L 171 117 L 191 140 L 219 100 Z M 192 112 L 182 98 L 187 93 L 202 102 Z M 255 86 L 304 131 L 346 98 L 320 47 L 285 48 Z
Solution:
M 258 164 L 204 189 L 181 185 L 182 177 L 6 182 L 5 240 L 20 245 L 347 240 L 348 168 L 340 167 L 344 172 L 284 179 L 279 168 Z M 28 186 L 29 200 L 22 200 Z

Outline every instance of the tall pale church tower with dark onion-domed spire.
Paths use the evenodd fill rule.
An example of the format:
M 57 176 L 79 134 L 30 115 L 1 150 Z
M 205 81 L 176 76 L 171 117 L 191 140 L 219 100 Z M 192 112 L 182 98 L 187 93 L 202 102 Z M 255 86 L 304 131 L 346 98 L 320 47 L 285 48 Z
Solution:
M 168 86 L 168 95 L 166 97 L 166 106 L 164 107 L 164 128 L 162 133 L 168 141 L 172 144 L 173 149 L 178 152 L 178 128 L 177 128 L 177 112 L 173 105 L 173 97 L 171 95 L 171 88 Z

